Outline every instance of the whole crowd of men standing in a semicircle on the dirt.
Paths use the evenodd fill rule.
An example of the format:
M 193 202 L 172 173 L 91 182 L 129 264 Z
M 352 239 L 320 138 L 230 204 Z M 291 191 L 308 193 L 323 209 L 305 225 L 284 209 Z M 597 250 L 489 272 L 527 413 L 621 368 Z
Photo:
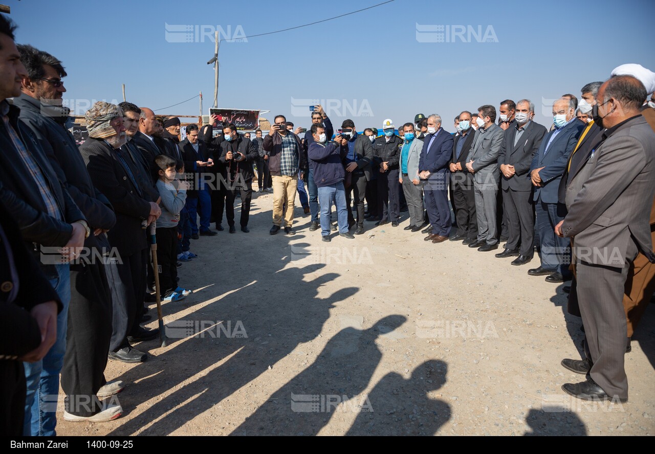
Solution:
M 555 100 L 550 131 L 534 122 L 529 99 L 505 99 L 498 118 L 495 105 L 462 111 L 455 133 L 440 115 L 418 114 L 398 128 L 384 120 L 381 134 L 348 119 L 335 134 L 316 106 L 309 130 L 278 115 L 251 139 L 234 124 L 214 133 L 211 118 L 179 141 L 179 118 L 98 102 L 77 147 L 61 102 L 62 62 L 16 46 L 14 28 L 0 16 L 3 433 L 56 433 L 56 414 L 45 409 L 60 375 L 65 419 L 121 415 L 100 400 L 124 387 L 105 379 L 107 359 L 141 362 L 134 343 L 159 336 L 141 326 L 155 280 L 147 226 L 155 222 L 167 245 L 160 296 L 181 300 L 190 290 L 178 285 L 177 262 L 196 257 L 193 239 L 225 230 L 223 214 L 236 232 L 237 198 L 240 230 L 250 232 L 255 167 L 259 190 L 272 190 L 270 234 L 294 233 L 299 193 L 323 241 L 333 230 L 354 239 L 367 221 L 398 227 L 406 209 L 405 230 L 432 244 L 489 252 L 505 241 L 496 257 L 515 266 L 537 251 L 540 266 L 527 272 L 572 280 L 569 311 L 586 334 L 586 358 L 562 364 L 588 379 L 564 391 L 627 400 L 624 355 L 655 286 L 655 109 L 645 103 L 654 73 L 622 65 L 586 84 L 579 103 L 571 94 Z M 48 251 L 58 260 L 44 260 Z

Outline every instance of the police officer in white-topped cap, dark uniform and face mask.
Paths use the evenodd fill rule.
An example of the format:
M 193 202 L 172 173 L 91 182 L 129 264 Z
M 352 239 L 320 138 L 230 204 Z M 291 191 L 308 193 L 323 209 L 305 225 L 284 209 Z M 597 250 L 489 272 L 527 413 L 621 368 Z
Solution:
M 400 183 L 398 183 L 398 164 L 400 162 L 400 147 L 402 139 L 395 133 L 394 122 L 387 118 L 383 122 L 384 135 L 373 142 L 373 156 L 377 175 L 377 192 L 382 219 L 375 223 L 383 226 L 391 222 L 392 227 L 398 227 L 400 217 Z

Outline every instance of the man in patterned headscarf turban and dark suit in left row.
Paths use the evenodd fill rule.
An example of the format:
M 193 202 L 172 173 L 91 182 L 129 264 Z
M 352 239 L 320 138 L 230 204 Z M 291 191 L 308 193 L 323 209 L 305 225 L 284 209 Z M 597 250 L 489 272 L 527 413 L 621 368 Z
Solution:
M 114 302 L 124 302 L 127 315 L 121 326 L 113 326 L 109 359 L 142 362 L 145 354 L 134 350 L 130 343 L 159 336 L 159 330 L 145 330 L 139 324 L 148 261 L 143 229 L 159 217 L 161 209 L 147 200 L 130 157 L 121 150 L 127 140 L 121 108 L 98 101 L 86 112 L 85 120 L 89 139 L 79 150 L 94 186 L 107 196 L 116 213 L 116 225 L 108 234 L 109 242 L 121 256 Z

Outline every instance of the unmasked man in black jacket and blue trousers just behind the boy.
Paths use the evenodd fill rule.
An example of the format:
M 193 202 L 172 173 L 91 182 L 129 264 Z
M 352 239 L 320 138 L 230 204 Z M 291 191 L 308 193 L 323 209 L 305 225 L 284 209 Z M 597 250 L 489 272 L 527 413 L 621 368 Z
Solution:
M 215 175 L 211 168 L 214 167 L 214 154 L 198 137 L 198 126 L 190 124 L 187 126 L 187 138 L 179 143 L 184 161 L 184 171 L 195 175 L 195 190 L 187 191 L 187 211 L 191 219 L 191 238 L 198 239 L 198 234 L 203 236 L 214 236 L 218 232 L 209 229 L 212 217 L 212 196 L 211 186 Z M 200 215 L 200 229 L 196 218 Z

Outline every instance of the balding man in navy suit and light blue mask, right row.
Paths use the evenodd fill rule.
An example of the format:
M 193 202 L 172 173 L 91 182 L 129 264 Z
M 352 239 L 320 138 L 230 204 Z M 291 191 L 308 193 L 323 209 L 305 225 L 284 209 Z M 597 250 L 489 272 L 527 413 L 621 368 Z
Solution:
M 541 266 L 528 270 L 528 274 L 548 275 L 548 282 L 563 282 L 571 276 L 571 245 L 565 238 L 555 235 L 554 228 L 565 215 L 561 207 L 560 211 L 557 210 L 557 190 L 571 151 L 585 125 L 575 116 L 575 101 L 565 98 L 553 103 L 553 123 L 555 129 L 544 137 L 530 166 Z

